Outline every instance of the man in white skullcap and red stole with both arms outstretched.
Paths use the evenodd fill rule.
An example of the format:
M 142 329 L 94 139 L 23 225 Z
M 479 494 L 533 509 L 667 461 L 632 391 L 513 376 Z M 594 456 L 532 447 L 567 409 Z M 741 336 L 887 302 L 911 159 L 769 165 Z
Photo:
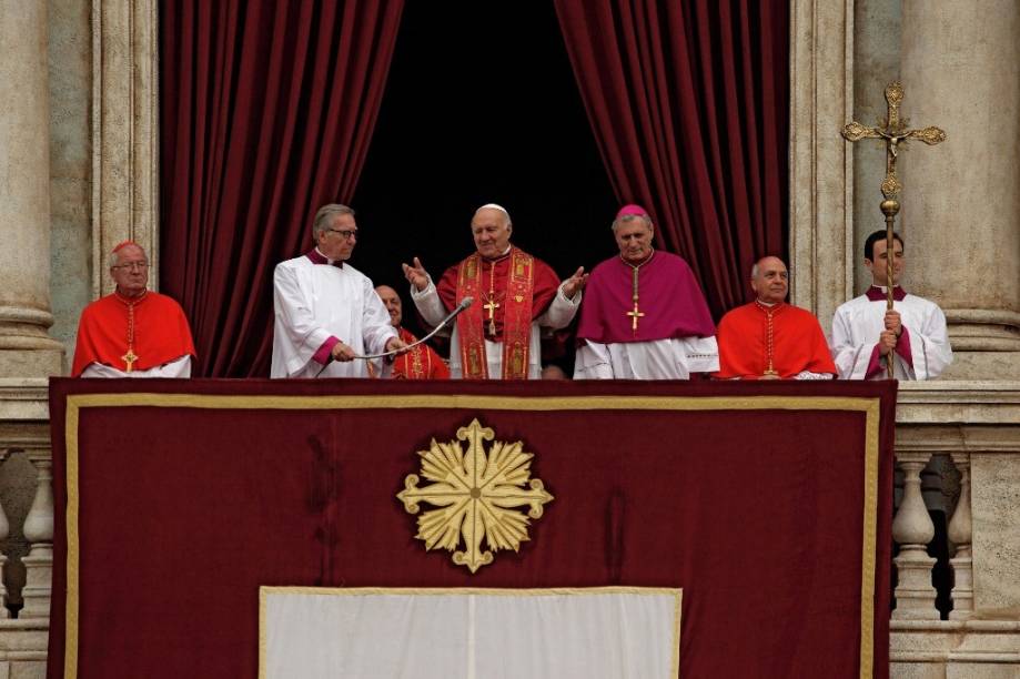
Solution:
M 466 297 L 474 303 L 457 316 L 450 347 L 454 378 L 538 379 L 542 328 L 566 327 L 587 282 L 584 267 L 559 282 L 542 260 L 511 245 L 509 213 L 482 205 L 471 221 L 476 251 L 433 283 L 422 262 L 404 264 L 411 298 L 422 318 L 438 325 Z

